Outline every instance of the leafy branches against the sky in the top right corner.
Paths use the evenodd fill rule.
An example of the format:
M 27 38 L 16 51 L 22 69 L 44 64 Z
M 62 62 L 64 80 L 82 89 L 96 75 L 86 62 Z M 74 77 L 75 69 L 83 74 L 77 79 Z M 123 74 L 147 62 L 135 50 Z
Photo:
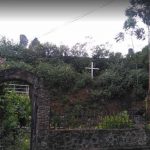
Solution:
M 130 0 L 130 7 L 126 10 L 127 20 L 124 22 L 125 31 L 136 36 L 137 39 L 145 40 L 145 30 L 138 26 L 139 18 L 149 28 L 150 26 L 150 2 L 146 0 Z M 149 31 L 148 31 L 149 32 Z M 115 38 L 116 41 L 124 39 L 124 33 L 120 32 Z

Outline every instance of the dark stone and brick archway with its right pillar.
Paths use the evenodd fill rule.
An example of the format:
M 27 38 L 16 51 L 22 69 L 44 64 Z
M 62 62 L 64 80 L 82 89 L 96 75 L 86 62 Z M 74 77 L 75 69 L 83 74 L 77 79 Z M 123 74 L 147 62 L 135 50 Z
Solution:
M 31 150 L 41 150 L 47 147 L 49 130 L 49 99 L 44 88 L 44 82 L 31 72 L 21 69 L 6 69 L 0 71 L 0 83 L 12 80 L 25 81 L 30 85 L 32 107 Z

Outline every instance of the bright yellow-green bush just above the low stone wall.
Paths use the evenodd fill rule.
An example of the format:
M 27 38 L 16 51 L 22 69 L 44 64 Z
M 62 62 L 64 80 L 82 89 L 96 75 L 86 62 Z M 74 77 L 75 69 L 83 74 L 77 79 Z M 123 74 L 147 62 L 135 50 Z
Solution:
M 123 111 L 116 115 L 105 116 L 97 126 L 98 129 L 122 129 L 131 127 L 132 120 L 129 118 L 127 111 Z

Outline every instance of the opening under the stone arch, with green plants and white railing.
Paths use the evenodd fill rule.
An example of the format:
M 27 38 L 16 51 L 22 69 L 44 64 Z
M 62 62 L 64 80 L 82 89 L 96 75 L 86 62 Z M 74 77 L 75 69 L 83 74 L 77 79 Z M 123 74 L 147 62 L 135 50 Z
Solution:
M 32 102 L 29 84 L 11 80 L 0 84 L 0 147 L 31 149 Z

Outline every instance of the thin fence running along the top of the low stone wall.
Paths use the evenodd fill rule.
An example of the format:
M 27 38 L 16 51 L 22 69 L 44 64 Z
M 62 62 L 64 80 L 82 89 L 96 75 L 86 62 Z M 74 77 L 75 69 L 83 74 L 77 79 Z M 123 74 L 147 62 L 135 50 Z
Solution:
M 145 122 L 144 116 L 127 111 L 119 113 L 101 113 L 98 111 L 50 113 L 50 129 L 131 128 L 143 126 Z

